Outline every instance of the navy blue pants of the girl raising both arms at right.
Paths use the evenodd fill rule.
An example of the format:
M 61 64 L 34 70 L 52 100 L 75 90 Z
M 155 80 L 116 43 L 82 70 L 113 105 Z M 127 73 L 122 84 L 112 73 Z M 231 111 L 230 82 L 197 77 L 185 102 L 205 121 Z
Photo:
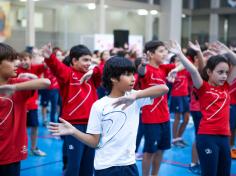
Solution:
M 197 152 L 202 176 L 230 176 L 231 155 L 228 136 L 197 135 Z

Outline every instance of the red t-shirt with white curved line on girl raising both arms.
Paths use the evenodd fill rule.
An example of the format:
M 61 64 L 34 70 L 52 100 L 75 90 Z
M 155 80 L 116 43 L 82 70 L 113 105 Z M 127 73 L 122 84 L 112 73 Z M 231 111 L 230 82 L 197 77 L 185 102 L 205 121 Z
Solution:
M 216 87 L 204 81 L 197 93 L 202 113 L 198 134 L 230 135 L 229 84 Z

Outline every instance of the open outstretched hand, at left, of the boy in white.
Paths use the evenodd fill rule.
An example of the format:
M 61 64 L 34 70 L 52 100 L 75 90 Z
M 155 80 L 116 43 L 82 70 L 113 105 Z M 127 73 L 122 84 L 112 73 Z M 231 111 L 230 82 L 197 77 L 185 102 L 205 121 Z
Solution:
M 61 123 L 50 122 L 48 125 L 48 131 L 52 133 L 53 136 L 64 136 L 74 134 L 75 127 L 72 126 L 66 120 L 59 118 Z

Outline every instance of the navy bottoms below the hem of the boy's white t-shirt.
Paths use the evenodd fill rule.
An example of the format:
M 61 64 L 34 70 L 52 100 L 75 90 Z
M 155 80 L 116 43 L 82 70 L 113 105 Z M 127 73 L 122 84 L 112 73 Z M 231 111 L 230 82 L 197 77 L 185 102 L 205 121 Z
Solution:
M 95 176 L 138 176 L 136 164 L 128 166 L 113 166 L 107 169 L 95 170 Z

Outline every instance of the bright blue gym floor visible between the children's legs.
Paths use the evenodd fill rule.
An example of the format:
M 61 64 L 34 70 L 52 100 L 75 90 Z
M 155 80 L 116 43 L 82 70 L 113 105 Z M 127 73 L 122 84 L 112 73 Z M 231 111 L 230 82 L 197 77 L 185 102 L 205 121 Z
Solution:
M 192 176 L 188 170 L 191 161 L 191 144 L 194 128 L 190 122 L 184 133 L 189 146 L 183 149 L 172 147 L 165 152 L 159 176 Z M 141 143 L 140 151 L 143 144 Z M 38 147 L 47 153 L 45 157 L 28 156 L 21 163 L 21 176 L 62 176 L 62 141 L 52 137 L 45 127 L 39 127 Z M 137 161 L 141 175 L 141 163 Z M 231 176 L 236 176 L 236 160 L 232 160 Z

